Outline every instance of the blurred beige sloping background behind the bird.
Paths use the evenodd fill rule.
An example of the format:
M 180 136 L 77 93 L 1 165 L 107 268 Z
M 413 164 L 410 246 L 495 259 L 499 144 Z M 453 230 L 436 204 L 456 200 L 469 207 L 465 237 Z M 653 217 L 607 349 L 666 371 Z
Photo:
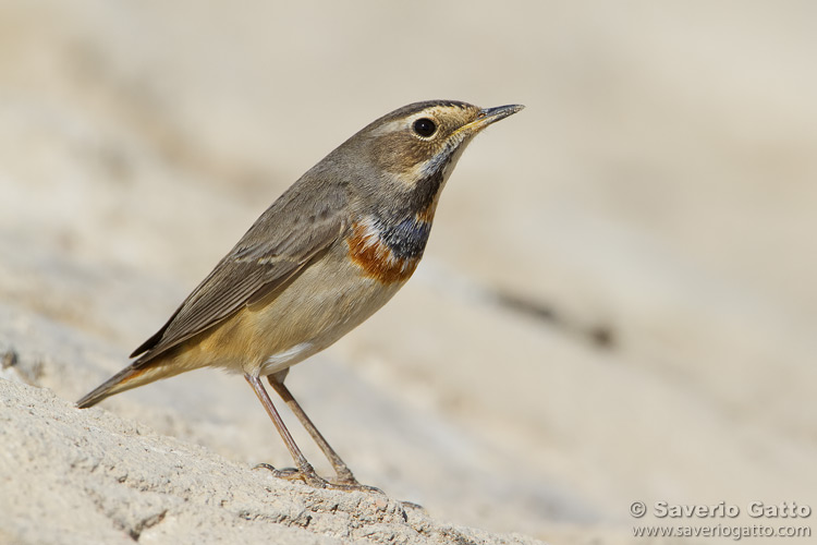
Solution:
M 0 302 L 93 347 L 21 360 L 76 399 L 368 122 L 524 104 L 460 161 L 415 278 L 291 373 L 320 429 L 435 517 L 559 543 L 629 542 L 635 500 L 817 509 L 815 21 L 807 1 L 2 2 Z M 288 463 L 239 377 L 103 407 Z

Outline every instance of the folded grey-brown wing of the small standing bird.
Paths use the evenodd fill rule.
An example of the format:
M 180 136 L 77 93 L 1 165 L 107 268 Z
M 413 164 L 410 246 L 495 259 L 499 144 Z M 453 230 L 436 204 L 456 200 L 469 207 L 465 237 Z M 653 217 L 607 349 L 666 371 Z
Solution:
M 344 195 L 310 185 L 313 191 L 308 182 L 296 183 L 258 218 L 168 323 L 131 354 L 144 354 L 136 366 L 282 286 L 341 237 Z

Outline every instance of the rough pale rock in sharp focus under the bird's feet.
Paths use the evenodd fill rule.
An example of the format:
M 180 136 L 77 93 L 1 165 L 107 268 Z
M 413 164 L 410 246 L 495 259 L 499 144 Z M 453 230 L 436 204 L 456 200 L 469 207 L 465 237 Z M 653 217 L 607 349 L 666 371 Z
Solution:
M 288 483 L 15 380 L 0 402 L 2 543 L 537 543 Z

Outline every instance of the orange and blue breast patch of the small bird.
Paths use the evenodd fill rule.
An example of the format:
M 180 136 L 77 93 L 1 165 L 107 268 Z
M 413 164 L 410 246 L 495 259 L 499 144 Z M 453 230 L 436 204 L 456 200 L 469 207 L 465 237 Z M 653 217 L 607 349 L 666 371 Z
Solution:
M 385 284 L 405 282 L 417 268 L 431 231 L 422 216 L 386 222 L 367 217 L 352 225 L 349 255 L 368 276 Z

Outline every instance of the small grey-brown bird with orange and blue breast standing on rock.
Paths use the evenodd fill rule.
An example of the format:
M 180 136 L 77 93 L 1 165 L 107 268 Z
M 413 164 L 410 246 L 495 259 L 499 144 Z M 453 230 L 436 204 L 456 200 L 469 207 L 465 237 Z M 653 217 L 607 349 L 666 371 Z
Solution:
M 371 489 L 318 432 L 284 378 L 292 365 L 346 335 L 405 284 L 463 150 L 485 128 L 523 108 L 427 100 L 366 125 L 284 191 L 133 351 L 135 360 L 77 407 L 200 367 L 242 374 L 296 465 L 258 467 L 316 488 Z M 304 457 L 261 377 L 322 450 L 334 477 L 319 476 Z

